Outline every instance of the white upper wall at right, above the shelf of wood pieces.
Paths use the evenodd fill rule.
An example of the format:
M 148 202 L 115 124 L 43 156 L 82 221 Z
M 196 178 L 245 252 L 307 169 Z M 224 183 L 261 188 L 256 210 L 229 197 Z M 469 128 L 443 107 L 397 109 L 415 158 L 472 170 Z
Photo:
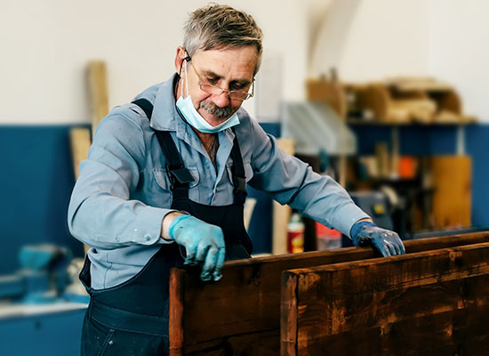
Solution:
M 346 81 L 430 76 L 452 84 L 464 112 L 489 122 L 489 1 L 335 0 L 309 76 L 336 67 Z

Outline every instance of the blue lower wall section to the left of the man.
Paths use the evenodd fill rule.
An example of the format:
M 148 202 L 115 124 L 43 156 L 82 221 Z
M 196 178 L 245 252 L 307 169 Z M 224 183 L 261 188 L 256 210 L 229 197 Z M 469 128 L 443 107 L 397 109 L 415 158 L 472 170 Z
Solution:
M 0 274 L 19 268 L 26 244 L 53 243 L 83 255 L 68 231 L 75 182 L 68 125 L 0 126 Z

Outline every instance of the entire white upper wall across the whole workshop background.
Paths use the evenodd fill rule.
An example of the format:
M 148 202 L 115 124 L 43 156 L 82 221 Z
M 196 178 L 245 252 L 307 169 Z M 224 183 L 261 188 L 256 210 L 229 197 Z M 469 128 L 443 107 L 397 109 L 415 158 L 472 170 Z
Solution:
M 304 80 L 339 69 L 348 81 L 435 76 L 453 84 L 465 111 L 489 121 L 489 1 L 222 1 L 250 12 L 265 59 L 282 59 L 282 93 L 304 98 Z M 86 62 L 108 63 L 109 105 L 172 75 L 189 12 L 207 1 L 0 1 L 0 124 L 89 121 Z M 318 14 L 325 16 L 317 26 Z M 323 15 L 325 14 L 325 15 Z M 316 34 L 311 29 L 320 28 Z M 311 49 L 309 41 L 316 41 Z M 309 56 L 312 51 L 314 53 Z M 258 79 L 260 80 L 260 78 Z M 255 101 L 246 102 L 252 114 Z

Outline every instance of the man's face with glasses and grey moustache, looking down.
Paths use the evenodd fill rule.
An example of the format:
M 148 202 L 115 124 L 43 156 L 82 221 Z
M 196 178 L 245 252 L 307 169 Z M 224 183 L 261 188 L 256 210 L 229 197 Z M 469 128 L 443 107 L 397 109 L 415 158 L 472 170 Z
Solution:
M 179 48 L 175 67 L 180 67 L 179 57 L 184 58 L 186 55 L 183 49 Z M 187 64 L 188 94 L 198 113 L 210 125 L 216 126 L 226 121 L 239 109 L 243 101 L 230 99 L 226 92 L 206 93 L 201 90 L 199 82 L 218 86 L 221 89 L 248 92 L 253 83 L 257 60 L 258 53 L 254 46 L 194 53 L 192 60 Z M 183 65 L 185 66 L 186 63 L 184 62 Z M 177 96 L 180 96 L 181 85 L 186 83 L 184 69 L 181 70 L 181 76 Z M 187 95 L 187 88 L 184 87 L 183 90 L 184 95 Z

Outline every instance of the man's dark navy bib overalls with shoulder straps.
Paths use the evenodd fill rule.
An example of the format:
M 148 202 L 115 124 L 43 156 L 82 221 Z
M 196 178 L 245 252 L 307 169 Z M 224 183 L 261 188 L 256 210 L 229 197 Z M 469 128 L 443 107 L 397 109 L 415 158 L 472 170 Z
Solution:
M 134 101 L 151 119 L 153 105 Z M 235 140 L 233 159 L 234 202 L 229 206 L 205 206 L 188 199 L 192 175 L 183 166 L 169 132 L 156 131 L 172 182 L 172 209 L 188 212 L 206 223 L 220 226 L 226 242 L 226 260 L 249 258 L 252 243 L 244 229 L 246 198 L 244 166 Z M 235 133 L 236 134 L 236 133 Z M 168 353 L 168 285 L 170 269 L 183 258 L 176 243 L 164 244 L 131 279 L 106 289 L 92 289 L 90 260 L 85 258 L 80 279 L 91 295 L 84 317 L 82 355 L 165 355 Z

